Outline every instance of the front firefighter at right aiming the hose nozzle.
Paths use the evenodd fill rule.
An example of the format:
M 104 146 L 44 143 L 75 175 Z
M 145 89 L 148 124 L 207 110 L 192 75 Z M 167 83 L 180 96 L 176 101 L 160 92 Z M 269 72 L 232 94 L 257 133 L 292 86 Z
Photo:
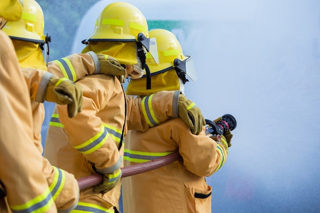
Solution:
M 182 53 L 180 43 L 170 31 L 156 29 L 150 31 L 149 36 L 156 38 L 159 53 L 159 64 L 147 60 L 152 87 L 145 89 L 144 78 L 133 79 L 126 93 L 142 97 L 162 90 L 184 93 L 188 78 L 196 80 L 192 57 Z M 226 141 L 222 135 L 219 143 L 206 136 L 204 130 L 203 126 L 199 135 L 191 134 L 181 119 L 173 118 L 146 132 L 128 131 L 125 167 L 175 151 L 182 158 L 164 167 L 124 178 L 124 212 L 211 212 L 212 188 L 207 185 L 205 176 L 222 167 L 231 139 Z

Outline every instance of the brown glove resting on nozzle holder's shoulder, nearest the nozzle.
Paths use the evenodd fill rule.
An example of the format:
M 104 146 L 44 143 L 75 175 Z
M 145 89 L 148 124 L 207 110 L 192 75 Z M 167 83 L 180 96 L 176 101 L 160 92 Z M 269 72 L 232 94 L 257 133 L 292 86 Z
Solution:
M 183 94 L 179 94 L 178 100 L 179 117 L 190 128 L 192 134 L 198 135 L 205 126 L 205 120 L 199 107 L 195 103 L 188 100 Z

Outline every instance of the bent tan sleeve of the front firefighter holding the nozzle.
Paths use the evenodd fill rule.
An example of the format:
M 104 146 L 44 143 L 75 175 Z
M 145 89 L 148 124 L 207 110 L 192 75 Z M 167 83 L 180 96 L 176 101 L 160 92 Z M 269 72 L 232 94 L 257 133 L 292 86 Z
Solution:
M 225 163 L 227 151 L 221 144 L 205 135 L 205 127 L 199 135 L 189 131 L 181 120 L 172 123 L 172 138 L 179 146 L 179 153 L 186 168 L 198 176 L 210 176 Z

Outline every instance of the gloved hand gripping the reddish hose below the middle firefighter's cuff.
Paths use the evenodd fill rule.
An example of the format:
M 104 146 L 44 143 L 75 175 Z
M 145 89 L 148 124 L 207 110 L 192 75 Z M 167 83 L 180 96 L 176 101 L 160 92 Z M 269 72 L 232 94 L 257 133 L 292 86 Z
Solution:
M 121 179 L 121 174 L 122 172 L 120 168 L 110 174 L 104 174 L 102 183 L 98 184 L 94 188 L 94 192 L 96 193 L 109 192 L 110 190 L 112 190 L 112 188 L 114 188 L 119 183 Z

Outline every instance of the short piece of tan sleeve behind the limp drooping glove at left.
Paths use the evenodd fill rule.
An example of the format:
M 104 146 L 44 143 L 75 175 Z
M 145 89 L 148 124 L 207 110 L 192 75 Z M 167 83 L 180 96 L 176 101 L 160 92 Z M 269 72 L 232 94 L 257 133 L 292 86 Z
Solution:
M 27 82 L 31 101 L 43 103 L 45 89 L 53 75 L 47 71 L 34 68 L 23 68 L 22 74 Z

